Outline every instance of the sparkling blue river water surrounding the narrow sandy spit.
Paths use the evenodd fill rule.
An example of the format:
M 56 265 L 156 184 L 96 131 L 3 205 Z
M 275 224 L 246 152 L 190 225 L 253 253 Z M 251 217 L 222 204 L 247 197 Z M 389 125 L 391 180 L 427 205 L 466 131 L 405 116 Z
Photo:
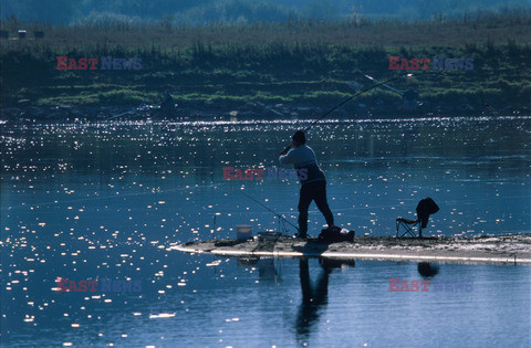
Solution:
M 228 181 L 223 167 L 277 166 L 305 126 L 1 124 L 1 341 L 530 345 L 529 266 L 440 264 L 424 278 L 415 263 L 329 266 L 166 250 L 232 236 L 236 224 L 278 230 L 274 214 L 241 190 L 294 223 L 296 181 Z M 428 234 L 531 232 L 530 117 L 331 120 L 308 137 L 336 223 L 357 234 L 394 235 L 396 217 L 413 218 L 427 196 L 440 207 Z M 311 209 L 316 235 L 324 219 Z M 389 292 L 389 278 L 473 286 L 400 293 Z M 83 281 L 98 284 L 91 292 Z

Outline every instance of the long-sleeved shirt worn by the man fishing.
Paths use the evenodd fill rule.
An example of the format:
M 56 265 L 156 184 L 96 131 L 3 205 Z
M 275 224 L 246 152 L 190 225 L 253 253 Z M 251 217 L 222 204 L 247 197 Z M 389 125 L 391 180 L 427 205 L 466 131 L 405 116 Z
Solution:
M 281 165 L 293 165 L 301 184 L 326 180 L 324 172 L 317 166 L 315 152 L 309 146 L 301 145 L 291 149 L 287 155 L 281 155 L 279 161 Z

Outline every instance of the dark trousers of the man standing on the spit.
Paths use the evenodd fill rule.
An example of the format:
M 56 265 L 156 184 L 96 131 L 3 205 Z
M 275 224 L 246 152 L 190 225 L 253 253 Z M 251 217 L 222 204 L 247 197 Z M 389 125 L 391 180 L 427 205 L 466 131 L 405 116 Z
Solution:
M 304 183 L 301 187 L 301 194 L 299 197 L 299 233 L 301 234 L 308 232 L 308 209 L 312 201 L 315 201 L 315 204 L 317 204 L 329 226 L 334 225 L 334 215 L 326 201 L 326 181 L 319 180 Z

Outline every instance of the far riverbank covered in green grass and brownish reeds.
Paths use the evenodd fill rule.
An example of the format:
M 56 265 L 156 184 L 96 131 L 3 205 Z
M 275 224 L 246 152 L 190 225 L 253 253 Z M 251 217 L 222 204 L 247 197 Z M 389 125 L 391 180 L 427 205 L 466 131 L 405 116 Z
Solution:
M 335 103 L 362 86 L 397 76 L 389 56 L 406 59 L 472 57 L 473 68 L 446 71 L 398 82 L 416 88 L 429 105 L 529 105 L 531 99 L 531 14 L 465 15 L 424 22 L 344 21 L 283 24 L 173 28 L 100 23 L 81 27 L 2 22 L 11 36 L 27 29 L 24 40 L 1 39 L 1 101 L 32 105 L 138 105 L 157 103 L 170 89 L 180 103 L 214 101 Z M 31 40 L 35 30 L 44 39 Z M 142 68 L 126 71 L 56 68 L 56 56 L 142 59 Z M 396 105 L 400 96 L 375 88 L 358 101 Z

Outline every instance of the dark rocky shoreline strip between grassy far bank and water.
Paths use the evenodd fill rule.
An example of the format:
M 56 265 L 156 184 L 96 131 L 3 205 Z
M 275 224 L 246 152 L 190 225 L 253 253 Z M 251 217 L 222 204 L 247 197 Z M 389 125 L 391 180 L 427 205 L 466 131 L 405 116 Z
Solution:
M 158 106 L 155 106 L 158 107 Z M 85 120 L 247 120 L 247 119 L 299 119 L 313 120 L 322 116 L 332 106 L 312 107 L 303 104 L 262 104 L 246 103 L 241 105 L 212 106 L 205 103 L 188 104 L 177 107 L 173 116 L 163 116 L 158 114 L 157 108 L 144 110 L 138 106 L 124 105 L 58 105 L 58 106 L 30 106 L 18 105 L 13 107 L 0 108 L 0 120 L 39 120 L 39 122 L 60 122 L 66 119 Z M 400 118 L 426 118 L 426 117 L 481 117 L 481 116 L 525 116 L 531 115 L 531 108 L 504 108 L 494 110 L 483 109 L 459 109 L 459 108 L 438 108 L 429 112 L 419 108 L 415 112 L 406 112 L 399 108 L 386 109 L 375 107 L 361 108 L 356 105 L 341 108 L 332 113 L 329 119 L 400 119 Z

